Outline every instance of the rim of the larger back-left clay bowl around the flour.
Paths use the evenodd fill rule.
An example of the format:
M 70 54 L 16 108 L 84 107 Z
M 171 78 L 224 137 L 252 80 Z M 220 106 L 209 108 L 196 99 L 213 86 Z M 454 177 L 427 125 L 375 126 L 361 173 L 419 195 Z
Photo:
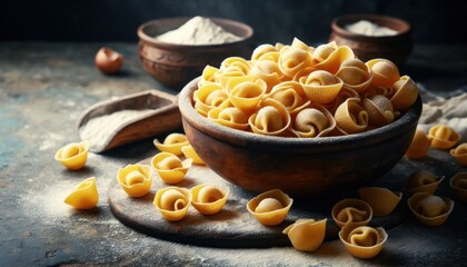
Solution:
M 255 32 L 254 29 L 249 24 L 247 24 L 247 23 L 244 23 L 244 22 L 238 21 L 238 20 L 231 20 L 231 19 L 225 19 L 225 18 L 217 18 L 217 17 L 202 17 L 202 18 L 210 19 L 210 20 L 212 20 L 213 22 L 216 22 L 217 24 L 219 24 L 221 27 L 222 27 L 222 24 L 229 24 L 229 26 L 234 26 L 234 27 L 237 27 L 237 28 L 241 28 L 241 29 L 246 30 L 246 32 L 247 32 L 246 36 L 239 36 L 240 39 L 238 41 L 226 42 L 226 43 L 217 43 L 217 44 L 180 44 L 180 43 L 170 43 L 170 42 L 159 41 L 155 37 L 150 37 L 150 36 L 148 36 L 145 32 L 145 30 L 148 27 L 152 27 L 153 24 L 160 23 L 162 21 L 166 21 L 166 22 L 167 21 L 175 21 L 175 20 L 177 20 L 177 21 L 178 20 L 186 20 L 186 21 L 188 21 L 188 20 L 190 20 L 193 17 L 168 17 L 168 18 L 160 18 L 160 19 L 150 20 L 150 21 L 147 21 L 147 22 L 145 22 L 145 23 L 142 23 L 142 24 L 140 24 L 138 27 L 137 34 L 140 38 L 140 40 L 143 40 L 143 41 L 146 41 L 148 43 L 156 44 L 156 46 L 161 47 L 161 48 L 208 49 L 208 48 L 221 48 L 221 47 L 223 48 L 223 47 L 229 47 L 229 46 L 236 46 L 238 43 L 241 43 L 241 42 L 245 42 L 245 41 L 249 40 L 254 36 L 254 32 Z M 182 24 L 185 22 L 182 22 Z

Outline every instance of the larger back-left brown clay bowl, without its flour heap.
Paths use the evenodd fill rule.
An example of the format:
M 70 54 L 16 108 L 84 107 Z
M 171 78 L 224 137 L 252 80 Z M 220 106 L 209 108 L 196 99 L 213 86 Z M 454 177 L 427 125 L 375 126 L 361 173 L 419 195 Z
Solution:
M 232 56 L 250 57 L 249 41 L 252 29 L 241 22 L 209 18 L 225 30 L 241 37 L 239 41 L 210 44 L 173 44 L 156 40 L 155 37 L 175 30 L 191 18 L 166 18 L 146 22 L 138 28 L 139 59 L 143 69 L 165 86 L 181 89 L 187 82 L 201 75 L 207 65 L 218 67 Z

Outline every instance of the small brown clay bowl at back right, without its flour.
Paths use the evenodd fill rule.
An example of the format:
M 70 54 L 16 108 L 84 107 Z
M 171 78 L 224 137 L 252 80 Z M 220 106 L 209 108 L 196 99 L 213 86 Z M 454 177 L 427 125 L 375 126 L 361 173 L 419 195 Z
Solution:
M 372 37 L 362 36 L 346 30 L 347 24 L 359 20 L 368 20 L 397 31 L 395 36 Z M 410 24 L 404 20 L 379 14 L 347 14 L 338 17 L 331 22 L 332 32 L 329 41 L 339 46 L 349 46 L 357 57 L 364 61 L 385 58 L 391 60 L 399 68 L 411 53 L 413 40 Z

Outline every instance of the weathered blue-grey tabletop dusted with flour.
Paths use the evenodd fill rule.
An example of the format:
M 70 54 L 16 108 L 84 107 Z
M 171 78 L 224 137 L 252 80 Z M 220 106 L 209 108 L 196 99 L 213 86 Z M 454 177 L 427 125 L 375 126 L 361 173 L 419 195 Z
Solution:
M 123 55 L 120 75 L 103 76 L 95 68 L 102 46 Z M 449 95 L 467 86 L 467 47 L 416 46 L 401 72 L 431 92 Z M 438 228 L 408 219 L 390 229 L 387 247 L 371 260 L 354 258 L 339 240 L 314 254 L 291 247 L 221 249 L 166 241 L 122 225 L 110 211 L 108 187 L 119 167 L 156 152 L 152 140 L 90 154 L 81 171 L 66 170 L 53 155 L 79 140 L 82 110 L 152 88 L 177 93 L 142 70 L 136 43 L 0 43 L 0 265 L 455 266 L 467 260 L 467 207 L 458 201 L 455 216 Z M 68 192 L 91 176 L 100 192 L 98 208 L 83 212 L 64 205 Z

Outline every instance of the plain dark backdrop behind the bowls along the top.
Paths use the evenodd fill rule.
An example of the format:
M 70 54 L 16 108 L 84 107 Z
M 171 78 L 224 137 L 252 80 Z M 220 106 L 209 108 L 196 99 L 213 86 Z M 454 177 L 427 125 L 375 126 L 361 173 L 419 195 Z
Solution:
M 455 0 L 7 0 L 0 40 L 137 41 L 145 21 L 210 16 L 244 21 L 255 41 L 327 41 L 332 18 L 371 12 L 413 26 L 415 42 L 466 43 L 467 4 Z

